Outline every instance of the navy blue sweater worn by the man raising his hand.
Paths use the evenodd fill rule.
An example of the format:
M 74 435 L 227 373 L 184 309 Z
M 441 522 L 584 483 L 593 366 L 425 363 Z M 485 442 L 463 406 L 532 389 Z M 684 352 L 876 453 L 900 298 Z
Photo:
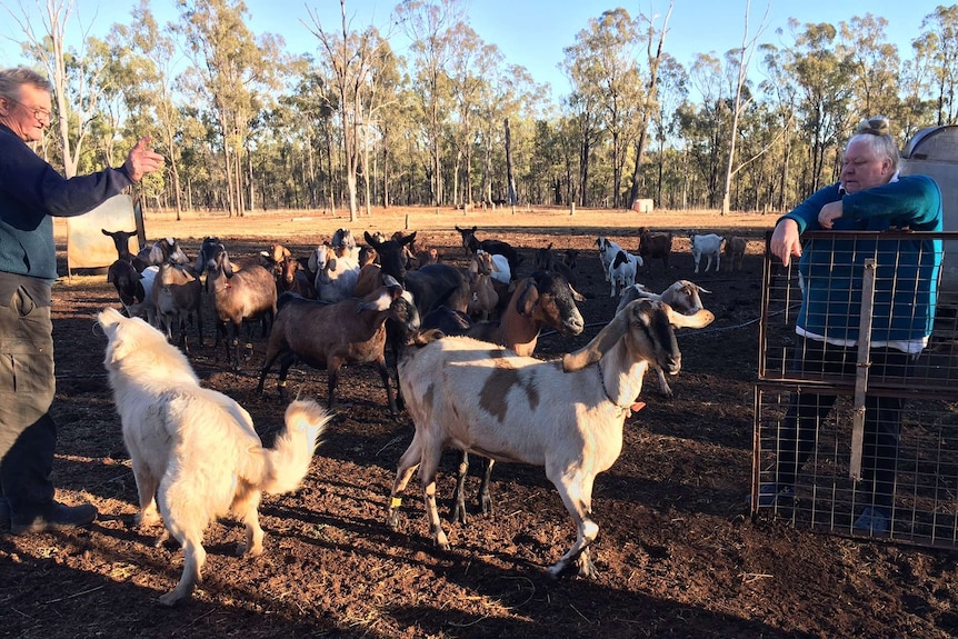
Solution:
M 122 168 L 68 180 L 0 124 L 0 271 L 52 283 L 52 218 L 81 216 L 130 183 Z

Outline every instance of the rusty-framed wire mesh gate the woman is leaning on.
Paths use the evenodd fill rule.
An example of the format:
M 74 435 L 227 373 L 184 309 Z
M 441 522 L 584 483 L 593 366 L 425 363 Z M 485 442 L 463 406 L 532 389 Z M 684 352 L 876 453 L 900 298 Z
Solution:
M 940 250 L 940 240 L 958 233 L 808 236 L 856 241 L 838 247 L 854 250 L 828 251 L 829 263 L 806 264 L 800 274 L 794 263 L 784 269 L 766 259 L 752 512 L 837 533 L 954 546 L 956 310 L 938 306 L 920 352 L 907 352 L 919 348 L 897 329 L 921 325 L 940 292 L 940 273 L 928 267 L 936 261 L 921 251 Z M 809 282 L 838 303 L 801 309 L 801 287 Z M 797 335 L 800 311 L 802 326 L 845 339 Z M 889 517 L 881 527 L 862 528 L 860 518 L 872 508 Z

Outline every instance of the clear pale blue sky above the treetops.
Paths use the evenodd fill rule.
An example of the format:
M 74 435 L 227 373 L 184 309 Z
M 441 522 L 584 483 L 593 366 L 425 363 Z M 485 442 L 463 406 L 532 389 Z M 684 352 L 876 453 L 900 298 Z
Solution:
M 36 11 L 40 0 L 0 0 L 0 66 L 22 62 L 18 41 L 23 39 L 19 28 L 9 19 L 9 11 L 20 14 L 20 7 Z M 898 46 L 902 58 L 910 57 L 910 43 L 920 32 L 921 20 L 941 4 L 940 0 L 911 0 L 909 2 L 874 0 L 872 2 L 838 2 L 836 0 L 752 0 L 749 32 L 761 27 L 762 41 L 776 41 L 776 30 L 788 33 L 789 18 L 799 22 L 848 21 L 854 16 L 870 12 L 888 20 L 886 33 Z M 947 2 L 945 2 L 947 4 Z M 397 1 L 347 0 L 347 14 L 353 29 L 373 23 L 383 32 Z M 603 10 L 622 6 L 633 16 L 665 14 L 666 0 L 597 2 L 596 0 L 467 0 L 467 12 L 472 29 L 487 42 L 502 51 L 506 62 L 521 64 L 537 82 L 549 82 L 553 96 L 568 91 L 566 80 L 557 66 L 562 61 L 562 49 L 575 42 L 576 33 L 590 18 Z M 92 34 L 102 36 L 113 22 L 129 22 L 129 7 L 133 2 L 117 3 L 107 0 L 73 0 L 74 14 L 71 32 L 79 38 L 80 26 L 88 26 Z M 123 7 L 118 11 L 118 7 Z M 174 0 L 152 0 L 152 11 L 160 20 L 176 17 Z M 315 53 L 316 39 L 303 26 L 311 22 L 309 7 L 329 30 L 338 30 L 339 0 L 247 0 L 250 27 L 256 33 L 281 34 L 291 53 Z M 721 57 L 725 51 L 741 44 L 745 32 L 745 0 L 675 0 L 669 19 L 666 50 L 686 68 L 696 53 L 712 52 Z M 661 24 L 661 18 L 657 21 Z M 396 32 L 393 47 L 405 48 L 405 37 Z M 788 42 L 788 40 L 785 40 Z

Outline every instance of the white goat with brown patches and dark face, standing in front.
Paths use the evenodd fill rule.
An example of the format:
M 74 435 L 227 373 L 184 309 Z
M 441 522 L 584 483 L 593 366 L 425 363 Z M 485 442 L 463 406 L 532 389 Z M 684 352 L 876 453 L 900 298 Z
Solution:
M 502 461 L 543 466 L 576 525 L 572 547 L 549 568 L 572 566 L 593 576 L 589 546 L 592 485 L 622 450 L 622 427 L 649 363 L 676 375 L 681 355 L 672 327 L 700 328 L 713 316 L 682 316 L 668 304 L 637 300 L 585 348 L 562 362 L 521 357 L 469 338 L 446 338 L 411 351 L 400 381 L 416 427 L 399 460 L 387 522 L 399 522 L 399 493 L 419 468 L 429 532 L 450 547 L 436 507 L 436 472 L 446 446 Z

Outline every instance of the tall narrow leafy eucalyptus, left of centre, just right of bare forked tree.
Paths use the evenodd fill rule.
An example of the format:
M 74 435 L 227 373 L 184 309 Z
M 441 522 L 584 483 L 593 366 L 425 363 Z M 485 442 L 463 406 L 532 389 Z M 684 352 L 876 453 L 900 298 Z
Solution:
M 446 199 L 441 136 L 448 121 L 449 61 L 457 46 L 452 32 L 462 21 L 465 10 L 459 0 L 402 0 L 396 11 L 412 41 L 413 84 L 421 102 L 420 111 L 427 119 L 429 186 L 432 203 L 439 206 Z

